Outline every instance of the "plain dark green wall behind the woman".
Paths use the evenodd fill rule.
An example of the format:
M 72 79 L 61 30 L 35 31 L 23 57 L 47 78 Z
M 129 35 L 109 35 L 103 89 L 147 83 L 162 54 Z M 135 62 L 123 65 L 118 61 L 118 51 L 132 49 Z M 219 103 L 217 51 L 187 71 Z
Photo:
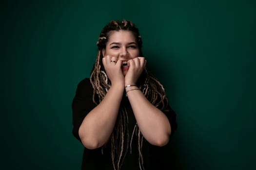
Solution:
M 177 112 L 172 169 L 256 168 L 254 0 L 87 1 L 1 2 L 1 170 L 79 170 L 71 102 L 123 18 Z

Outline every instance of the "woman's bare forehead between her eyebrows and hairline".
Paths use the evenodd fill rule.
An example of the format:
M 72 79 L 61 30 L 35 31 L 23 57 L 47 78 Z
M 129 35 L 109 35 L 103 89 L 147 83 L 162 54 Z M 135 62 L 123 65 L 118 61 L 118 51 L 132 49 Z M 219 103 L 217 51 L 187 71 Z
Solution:
M 112 42 L 136 42 L 136 38 L 131 31 L 111 31 L 109 32 L 108 43 Z

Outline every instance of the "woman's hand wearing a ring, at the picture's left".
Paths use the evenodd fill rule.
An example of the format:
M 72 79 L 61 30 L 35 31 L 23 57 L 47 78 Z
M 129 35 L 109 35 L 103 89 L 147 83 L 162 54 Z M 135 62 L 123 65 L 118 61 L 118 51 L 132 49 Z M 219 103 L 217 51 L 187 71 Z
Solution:
M 111 81 L 111 85 L 122 84 L 124 86 L 124 76 L 121 69 L 121 60 L 118 60 L 117 57 L 106 55 L 102 58 L 102 63 L 106 70 L 107 76 Z

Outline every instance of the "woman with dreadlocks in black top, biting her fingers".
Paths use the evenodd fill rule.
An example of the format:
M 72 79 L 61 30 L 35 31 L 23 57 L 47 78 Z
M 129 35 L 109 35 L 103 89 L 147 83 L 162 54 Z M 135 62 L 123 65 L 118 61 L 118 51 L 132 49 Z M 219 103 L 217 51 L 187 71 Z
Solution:
M 131 21 L 111 21 L 98 38 L 90 79 L 72 103 L 73 134 L 83 144 L 82 170 L 155 170 L 177 128 L 160 82 L 145 68 Z

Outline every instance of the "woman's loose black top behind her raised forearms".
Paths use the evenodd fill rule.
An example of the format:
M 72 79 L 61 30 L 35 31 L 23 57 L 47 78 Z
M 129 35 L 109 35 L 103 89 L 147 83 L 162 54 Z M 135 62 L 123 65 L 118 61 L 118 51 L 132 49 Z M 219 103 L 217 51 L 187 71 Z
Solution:
M 94 108 L 96 104 L 92 100 L 93 98 L 93 87 L 90 83 L 90 79 L 85 78 L 82 80 L 76 91 L 72 103 L 73 109 L 73 135 L 79 139 L 79 127 L 84 117 Z M 121 104 L 126 106 L 128 113 L 128 129 L 129 132 L 133 132 L 133 128 L 136 124 L 130 102 L 124 95 Z M 172 134 L 177 129 L 176 114 L 168 105 L 169 111 L 163 111 L 169 119 L 172 127 Z M 131 136 L 131 135 L 130 135 Z M 139 170 L 138 163 L 138 138 L 134 136 L 132 139 L 132 152 L 127 152 L 124 162 L 121 166 L 121 170 Z M 110 156 L 110 142 L 104 146 L 103 154 L 101 153 L 101 147 L 94 150 L 84 148 L 83 159 L 82 159 L 82 170 L 113 170 L 112 160 Z M 143 141 L 142 156 L 143 156 L 143 167 L 145 170 L 167 170 L 170 160 L 168 160 L 168 144 L 164 147 L 158 147 L 151 145 L 146 140 Z

